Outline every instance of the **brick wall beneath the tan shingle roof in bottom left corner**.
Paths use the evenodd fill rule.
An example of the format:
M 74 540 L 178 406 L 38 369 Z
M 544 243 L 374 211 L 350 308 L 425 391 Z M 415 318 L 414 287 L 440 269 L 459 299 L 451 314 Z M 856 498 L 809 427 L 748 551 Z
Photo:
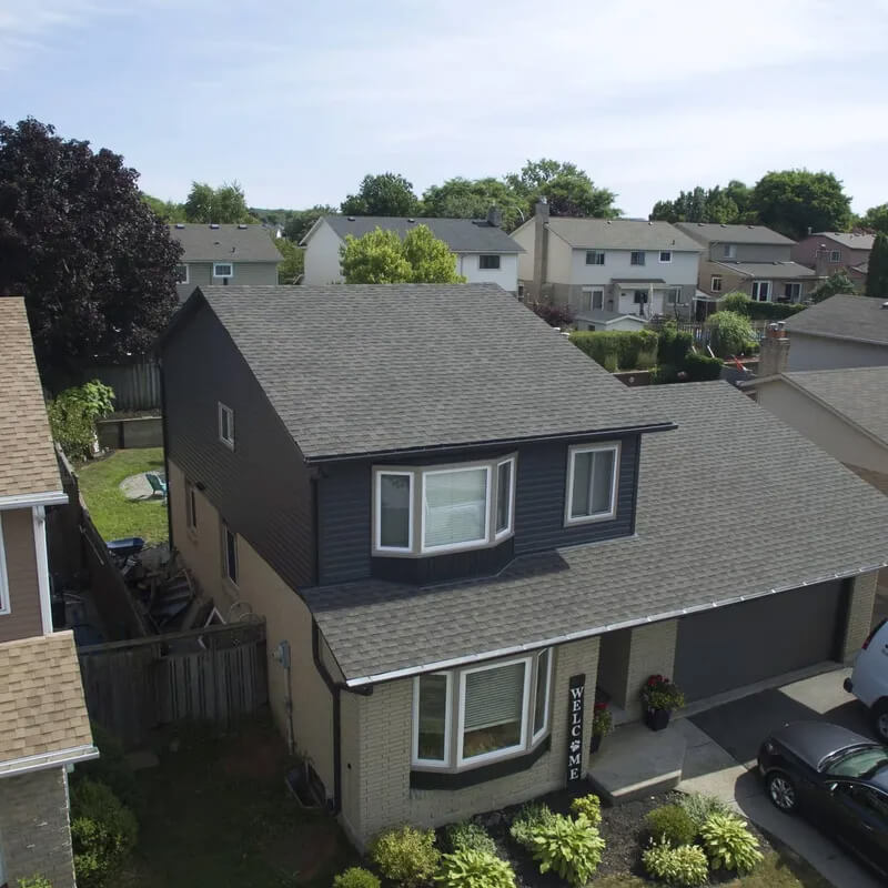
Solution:
M 73 888 L 74 864 L 63 768 L 0 780 L 0 842 L 7 880 L 43 876 Z

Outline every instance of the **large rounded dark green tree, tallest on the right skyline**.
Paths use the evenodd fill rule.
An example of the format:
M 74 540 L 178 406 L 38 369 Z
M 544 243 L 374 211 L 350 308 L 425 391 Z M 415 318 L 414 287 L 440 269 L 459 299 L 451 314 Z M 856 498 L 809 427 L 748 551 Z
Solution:
M 753 190 L 763 225 L 799 240 L 813 231 L 847 231 L 851 199 L 833 173 L 783 170 L 763 175 Z

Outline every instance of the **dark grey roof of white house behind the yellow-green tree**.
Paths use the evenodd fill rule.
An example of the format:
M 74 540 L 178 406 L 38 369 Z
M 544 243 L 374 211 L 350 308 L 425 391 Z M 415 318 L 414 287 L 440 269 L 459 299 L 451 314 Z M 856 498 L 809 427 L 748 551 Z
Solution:
M 403 238 L 418 225 L 427 225 L 432 234 L 444 241 L 454 253 L 523 253 L 524 248 L 503 229 L 484 219 L 436 219 L 394 215 L 325 215 L 322 219 L 345 240 L 346 234 L 362 238 L 377 228 L 396 231 Z M 303 243 L 307 241 L 307 235 Z

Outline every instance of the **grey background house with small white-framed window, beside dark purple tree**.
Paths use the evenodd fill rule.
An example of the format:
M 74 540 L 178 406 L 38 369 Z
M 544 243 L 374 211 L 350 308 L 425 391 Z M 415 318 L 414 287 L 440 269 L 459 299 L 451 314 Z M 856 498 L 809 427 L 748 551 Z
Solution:
M 184 302 L 195 286 L 238 284 L 274 286 L 283 256 L 265 225 L 176 222 L 170 236 L 182 244 L 176 292 Z

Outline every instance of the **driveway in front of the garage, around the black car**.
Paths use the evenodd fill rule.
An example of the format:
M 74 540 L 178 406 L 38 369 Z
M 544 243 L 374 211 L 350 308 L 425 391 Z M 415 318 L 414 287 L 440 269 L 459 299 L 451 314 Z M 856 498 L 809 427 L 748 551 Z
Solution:
M 675 727 L 687 740 L 678 788 L 730 803 L 800 854 L 836 888 L 879 888 L 881 880 L 826 835 L 800 817 L 778 811 L 765 795 L 756 770 L 761 740 L 787 722 L 823 719 L 872 736 L 866 710 L 841 687 L 849 674 L 850 669 L 826 672 L 677 720 Z

